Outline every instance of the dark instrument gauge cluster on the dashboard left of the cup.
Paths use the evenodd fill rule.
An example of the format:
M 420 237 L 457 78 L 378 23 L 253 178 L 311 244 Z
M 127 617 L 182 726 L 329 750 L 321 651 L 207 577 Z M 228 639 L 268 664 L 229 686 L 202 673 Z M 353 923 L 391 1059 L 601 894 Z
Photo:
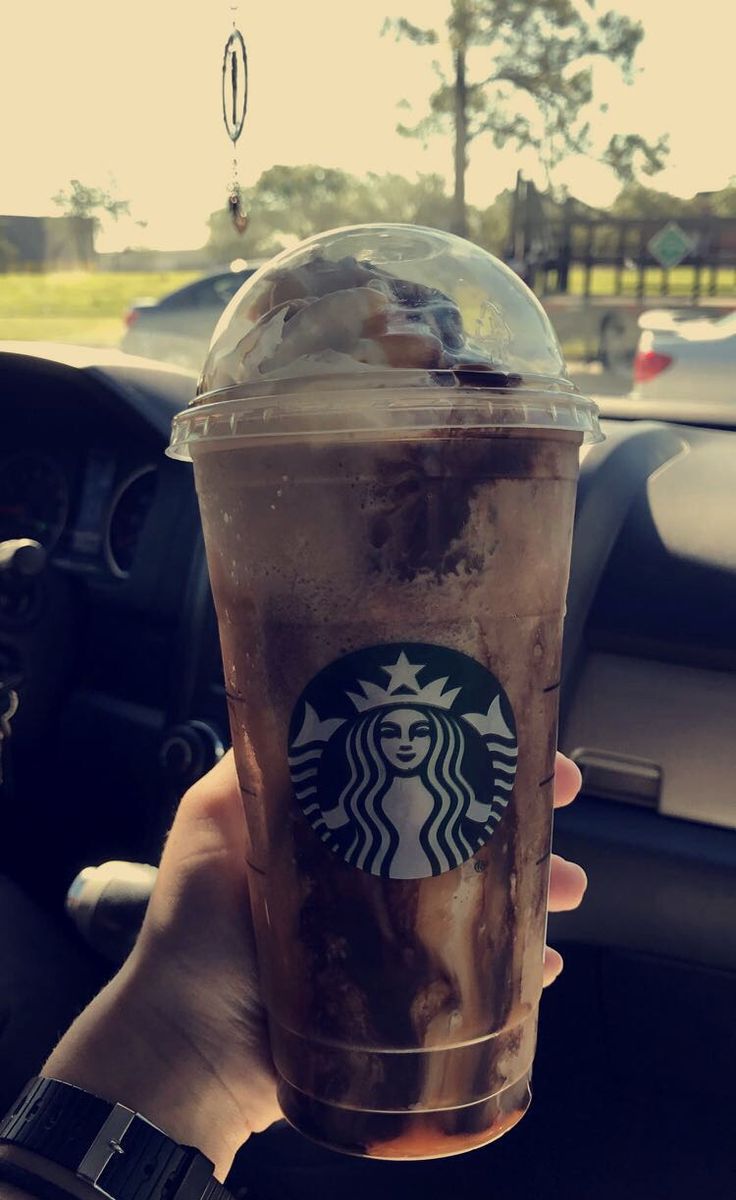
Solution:
M 61 568 L 125 580 L 157 482 L 152 463 L 125 469 L 106 449 L 82 472 L 35 450 L 0 457 L 0 541 L 32 538 Z

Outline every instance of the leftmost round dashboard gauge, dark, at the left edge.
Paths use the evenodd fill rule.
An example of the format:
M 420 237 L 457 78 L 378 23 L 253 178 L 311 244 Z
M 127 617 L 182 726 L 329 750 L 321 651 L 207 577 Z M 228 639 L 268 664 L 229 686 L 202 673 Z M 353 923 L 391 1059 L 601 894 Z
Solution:
M 0 463 L 0 540 L 34 538 L 50 550 L 67 514 L 66 478 L 55 462 L 29 451 Z

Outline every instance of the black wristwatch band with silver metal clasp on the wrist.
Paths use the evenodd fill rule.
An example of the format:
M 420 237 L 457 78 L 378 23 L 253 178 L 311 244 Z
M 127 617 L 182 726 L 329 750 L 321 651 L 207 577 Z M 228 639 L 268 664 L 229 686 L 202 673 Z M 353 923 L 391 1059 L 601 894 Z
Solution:
M 198 1150 L 56 1079 L 30 1081 L 0 1120 L 0 1145 L 40 1154 L 108 1200 L 232 1200 Z

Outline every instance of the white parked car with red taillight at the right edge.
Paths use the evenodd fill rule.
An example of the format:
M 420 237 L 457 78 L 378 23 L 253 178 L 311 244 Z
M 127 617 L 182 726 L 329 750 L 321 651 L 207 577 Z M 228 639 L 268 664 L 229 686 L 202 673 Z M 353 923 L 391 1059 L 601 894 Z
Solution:
M 736 312 L 687 319 L 656 310 L 639 318 L 634 395 L 736 401 Z

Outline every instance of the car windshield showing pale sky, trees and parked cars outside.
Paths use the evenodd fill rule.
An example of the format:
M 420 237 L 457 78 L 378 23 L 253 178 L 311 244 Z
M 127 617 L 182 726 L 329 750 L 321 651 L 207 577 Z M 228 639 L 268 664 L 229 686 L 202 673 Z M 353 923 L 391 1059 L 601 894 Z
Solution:
M 131 0 L 104 31 L 97 5 L 68 0 L 44 8 L 42 37 L 34 7 L 13 6 L 0 340 L 198 372 L 274 253 L 395 221 L 504 259 L 586 392 L 732 400 L 712 341 L 687 360 L 668 342 L 692 318 L 736 325 L 736 166 L 713 136 L 730 110 L 728 8 L 701 0 L 678 22 L 659 0 L 604 18 L 582 0 L 517 7 L 511 26 L 480 0 L 313 0 L 285 30 L 277 7 L 251 6 L 233 142 L 244 80 L 223 95 L 225 0 L 186 18 Z

